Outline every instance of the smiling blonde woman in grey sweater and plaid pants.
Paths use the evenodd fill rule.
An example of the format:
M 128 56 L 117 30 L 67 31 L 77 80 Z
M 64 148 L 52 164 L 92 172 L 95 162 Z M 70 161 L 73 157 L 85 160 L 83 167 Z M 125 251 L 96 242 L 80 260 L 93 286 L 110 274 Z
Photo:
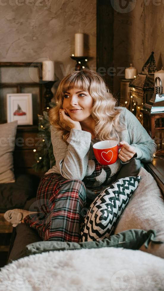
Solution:
M 12 221 L 19 212 L 21 222 L 34 227 L 45 241 L 78 242 L 86 198 L 93 201 L 131 159 L 151 162 L 156 144 L 133 113 L 116 107 L 97 72 L 83 69 L 66 76 L 59 84 L 56 101 L 57 106 L 49 111 L 56 165 L 40 180 L 40 212 L 13 210 L 5 216 Z M 110 139 L 123 146 L 116 163 L 103 166 L 94 157 L 93 144 Z

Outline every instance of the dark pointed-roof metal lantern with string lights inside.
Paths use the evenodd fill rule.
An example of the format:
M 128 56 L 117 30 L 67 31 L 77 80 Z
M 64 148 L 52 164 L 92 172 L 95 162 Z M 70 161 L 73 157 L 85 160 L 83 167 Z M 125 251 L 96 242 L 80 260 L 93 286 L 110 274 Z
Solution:
M 151 53 L 143 65 L 141 73 L 129 84 L 130 87 L 130 111 L 143 124 L 142 108 L 154 93 L 154 72 L 157 71 L 154 52 Z

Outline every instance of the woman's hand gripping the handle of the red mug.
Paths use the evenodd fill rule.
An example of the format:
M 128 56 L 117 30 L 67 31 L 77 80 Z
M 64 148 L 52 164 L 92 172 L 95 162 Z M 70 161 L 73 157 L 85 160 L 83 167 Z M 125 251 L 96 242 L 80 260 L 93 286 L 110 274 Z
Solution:
M 120 145 L 123 145 L 121 147 L 121 151 L 119 152 L 119 159 L 122 160 L 122 162 L 127 162 L 130 159 L 133 158 L 133 156 L 136 154 L 135 148 L 133 146 L 130 146 L 126 141 L 122 140 L 119 142 Z

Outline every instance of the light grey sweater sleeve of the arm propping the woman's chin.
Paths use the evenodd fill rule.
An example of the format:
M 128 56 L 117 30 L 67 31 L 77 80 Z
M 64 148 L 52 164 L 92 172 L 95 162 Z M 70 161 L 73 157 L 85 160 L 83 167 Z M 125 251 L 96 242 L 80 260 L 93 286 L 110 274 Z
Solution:
M 90 132 L 71 129 L 70 136 L 67 138 L 67 143 L 69 143 L 67 146 L 59 132 L 52 128 L 51 141 L 56 167 L 64 178 L 82 181 L 86 174 L 94 170 L 93 165 L 88 165 Z

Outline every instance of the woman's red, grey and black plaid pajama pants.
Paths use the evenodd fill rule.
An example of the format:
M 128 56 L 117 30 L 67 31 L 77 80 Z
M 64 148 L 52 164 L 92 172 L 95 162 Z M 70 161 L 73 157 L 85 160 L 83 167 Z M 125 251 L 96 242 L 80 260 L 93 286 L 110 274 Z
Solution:
M 87 179 L 100 175 L 102 168 L 95 161 L 95 170 Z M 67 180 L 57 173 L 43 175 L 37 189 L 36 213 L 23 221 L 37 230 L 43 241 L 79 242 L 80 223 L 85 216 L 86 187 L 83 181 Z

